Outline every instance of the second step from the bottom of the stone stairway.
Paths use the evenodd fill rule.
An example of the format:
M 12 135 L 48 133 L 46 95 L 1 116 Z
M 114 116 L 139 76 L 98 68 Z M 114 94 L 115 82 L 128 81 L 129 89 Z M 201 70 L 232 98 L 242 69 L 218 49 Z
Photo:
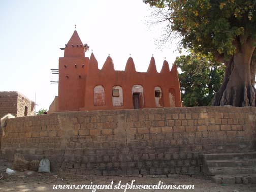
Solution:
M 209 168 L 209 175 L 256 174 L 256 167 L 220 167 Z

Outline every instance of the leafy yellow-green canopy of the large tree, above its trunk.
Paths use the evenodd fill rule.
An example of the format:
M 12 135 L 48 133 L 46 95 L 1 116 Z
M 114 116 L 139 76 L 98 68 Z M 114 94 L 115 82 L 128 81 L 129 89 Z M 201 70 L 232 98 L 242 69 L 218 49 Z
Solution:
M 143 0 L 167 10 L 163 18 L 182 36 L 181 45 L 196 52 L 221 55 L 236 52 L 233 41 L 255 40 L 256 0 Z

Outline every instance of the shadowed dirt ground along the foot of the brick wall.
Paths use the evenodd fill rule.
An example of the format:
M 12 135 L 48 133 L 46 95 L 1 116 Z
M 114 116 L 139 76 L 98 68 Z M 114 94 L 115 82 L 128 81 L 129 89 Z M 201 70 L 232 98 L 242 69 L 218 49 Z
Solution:
M 110 184 L 113 186 L 121 181 L 121 184 L 158 184 L 159 181 L 167 185 L 193 184 L 195 189 L 127 189 L 126 191 L 208 191 L 208 192 L 255 192 L 256 184 L 215 184 L 209 177 L 203 175 L 186 176 L 173 175 L 171 177 L 119 177 L 119 176 L 89 176 L 89 175 L 58 175 L 56 173 L 18 172 L 12 175 L 6 173 L 12 163 L 0 159 L 0 191 L 92 191 L 92 189 L 53 189 L 53 185 L 82 185 L 82 184 Z M 96 191 L 124 191 L 124 189 L 97 189 Z

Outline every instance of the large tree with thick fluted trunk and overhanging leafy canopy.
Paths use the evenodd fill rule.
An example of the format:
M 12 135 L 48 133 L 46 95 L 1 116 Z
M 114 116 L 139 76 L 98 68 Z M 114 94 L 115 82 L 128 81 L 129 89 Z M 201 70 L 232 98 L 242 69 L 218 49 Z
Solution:
M 211 53 L 227 66 L 214 106 L 255 106 L 252 61 L 256 39 L 255 0 L 143 0 L 161 9 L 167 31 L 183 48 Z M 163 11 L 165 10 L 165 11 Z

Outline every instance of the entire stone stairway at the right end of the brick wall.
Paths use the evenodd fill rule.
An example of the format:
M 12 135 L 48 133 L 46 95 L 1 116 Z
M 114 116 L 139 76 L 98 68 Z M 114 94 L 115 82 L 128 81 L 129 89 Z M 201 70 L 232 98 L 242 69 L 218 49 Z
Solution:
M 215 183 L 256 183 L 256 152 L 204 154 L 203 173 Z

